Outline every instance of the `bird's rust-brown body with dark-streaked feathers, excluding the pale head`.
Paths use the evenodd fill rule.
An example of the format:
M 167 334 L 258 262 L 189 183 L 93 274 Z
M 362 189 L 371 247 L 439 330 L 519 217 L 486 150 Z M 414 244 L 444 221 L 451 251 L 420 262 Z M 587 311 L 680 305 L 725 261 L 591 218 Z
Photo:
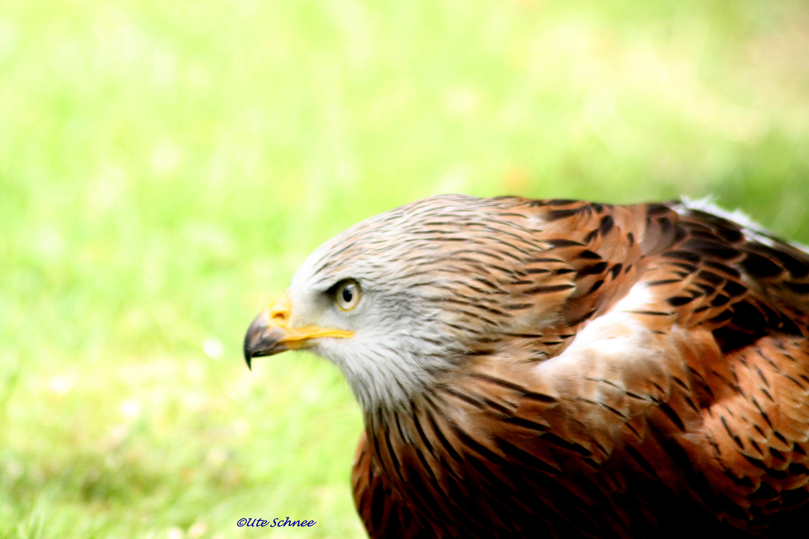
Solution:
M 371 537 L 781 537 L 803 522 L 809 255 L 677 204 L 499 200 L 538 242 L 500 301 L 557 322 L 366 418 L 354 491 Z

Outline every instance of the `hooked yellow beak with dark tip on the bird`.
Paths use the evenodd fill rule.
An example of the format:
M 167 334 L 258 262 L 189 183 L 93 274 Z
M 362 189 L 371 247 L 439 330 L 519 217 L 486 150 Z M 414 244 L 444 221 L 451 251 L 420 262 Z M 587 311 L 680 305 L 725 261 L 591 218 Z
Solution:
M 292 301 L 289 291 L 283 293 L 256 318 L 244 335 L 244 360 L 252 368 L 252 358 L 273 356 L 287 350 L 307 347 L 317 337 L 350 337 L 353 331 L 331 330 L 320 326 L 292 327 Z

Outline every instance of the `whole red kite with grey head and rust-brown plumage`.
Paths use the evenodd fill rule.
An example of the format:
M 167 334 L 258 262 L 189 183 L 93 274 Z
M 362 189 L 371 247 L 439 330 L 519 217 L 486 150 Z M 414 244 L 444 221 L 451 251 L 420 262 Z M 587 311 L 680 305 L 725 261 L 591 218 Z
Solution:
M 809 533 L 809 254 L 739 214 L 420 200 L 320 246 L 244 341 L 297 348 L 362 406 L 372 538 Z

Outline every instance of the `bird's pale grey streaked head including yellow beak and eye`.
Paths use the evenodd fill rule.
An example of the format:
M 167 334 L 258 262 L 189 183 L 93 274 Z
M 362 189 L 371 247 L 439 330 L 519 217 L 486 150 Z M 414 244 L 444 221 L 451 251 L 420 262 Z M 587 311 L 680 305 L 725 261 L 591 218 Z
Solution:
M 438 196 L 337 235 L 253 320 L 248 365 L 308 349 L 337 364 L 370 410 L 502 348 L 505 335 L 552 324 L 573 285 L 547 284 L 552 272 L 538 269 L 537 255 L 548 245 L 537 239 L 536 221 L 508 213 L 514 206 L 514 199 Z M 534 301 L 525 292 L 536 286 L 558 290 Z

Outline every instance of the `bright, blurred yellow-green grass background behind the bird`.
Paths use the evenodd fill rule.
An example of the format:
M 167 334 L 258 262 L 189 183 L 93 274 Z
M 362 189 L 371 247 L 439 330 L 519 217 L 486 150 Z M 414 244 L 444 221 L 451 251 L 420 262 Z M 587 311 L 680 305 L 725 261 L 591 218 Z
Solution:
M 439 192 L 713 195 L 809 242 L 807 28 L 780 0 L 4 0 L 0 537 L 361 537 L 358 407 L 311 356 L 249 373 L 253 314 Z

